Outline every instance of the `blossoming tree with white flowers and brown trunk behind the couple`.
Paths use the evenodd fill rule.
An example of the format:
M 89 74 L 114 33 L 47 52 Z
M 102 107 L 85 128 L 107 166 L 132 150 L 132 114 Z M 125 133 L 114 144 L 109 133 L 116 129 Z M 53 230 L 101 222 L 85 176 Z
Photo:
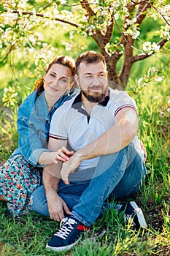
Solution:
M 119 84 L 125 89 L 136 61 L 147 59 L 160 50 L 167 53 L 169 13 L 170 5 L 166 0 L 1 1 L 1 63 L 8 61 L 10 54 L 18 53 L 20 48 L 25 53 L 36 54 L 36 47 L 39 47 L 41 59 L 52 58 L 55 48 L 42 42 L 37 29 L 55 28 L 60 23 L 67 26 L 71 39 L 75 34 L 93 37 L 107 61 L 110 86 L 115 88 Z M 153 39 L 146 42 L 142 38 L 147 33 L 142 23 L 148 18 L 158 23 L 158 29 L 154 31 L 156 42 Z M 161 80 L 156 69 L 150 69 L 148 77 L 151 73 Z

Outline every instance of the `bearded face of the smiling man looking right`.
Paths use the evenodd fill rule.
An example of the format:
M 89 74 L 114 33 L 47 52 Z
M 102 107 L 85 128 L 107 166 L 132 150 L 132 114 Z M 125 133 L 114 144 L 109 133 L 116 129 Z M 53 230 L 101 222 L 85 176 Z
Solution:
M 101 102 L 107 95 L 107 67 L 102 61 L 80 63 L 78 75 L 75 76 L 82 95 L 90 102 Z

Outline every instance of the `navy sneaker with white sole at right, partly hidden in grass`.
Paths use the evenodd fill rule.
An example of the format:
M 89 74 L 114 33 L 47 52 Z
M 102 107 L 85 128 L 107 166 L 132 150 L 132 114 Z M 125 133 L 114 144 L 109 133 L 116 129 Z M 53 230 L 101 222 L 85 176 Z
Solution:
M 147 222 L 144 219 L 142 209 L 139 208 L 134 201 L 123 204 L 118 209 L 118 214 L 120 214 L 121 211 L 124 211 L 126 224 L 131 222 L 136 228 L 147 227 Z

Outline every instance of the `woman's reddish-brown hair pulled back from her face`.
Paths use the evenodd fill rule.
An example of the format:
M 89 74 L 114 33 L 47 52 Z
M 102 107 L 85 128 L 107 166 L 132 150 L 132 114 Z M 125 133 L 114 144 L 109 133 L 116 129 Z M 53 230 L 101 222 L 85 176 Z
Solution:
M 48 65 L 45 74 L 47 74 L 47 72 L 53 66 L 53 64 L 60 64 L 60 65 L 63 65 L 64 67 L 69 67 L 69 69 L 72 72 L 72 82 L 74 81 L 74 75 L 75 75 L 76 69 L 75 69 L 75 62 L 71 57 L 69 57 L 69 56 L 59 56 L 59 57 L 55 58 Z M 45 90 L 44 89 L 44 78 L 43 77 L 36 80 L 35 85 L 34 85 L 34 91 L 35 90 L 37 90 L 37 95 L 38 96 L 42 93 L 42 91 Z

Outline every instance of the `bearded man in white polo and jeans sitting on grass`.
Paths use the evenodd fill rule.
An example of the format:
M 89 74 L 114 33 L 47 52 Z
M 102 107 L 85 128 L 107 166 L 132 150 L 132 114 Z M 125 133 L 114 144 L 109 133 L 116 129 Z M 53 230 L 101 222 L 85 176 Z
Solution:
M 136 150 L 141 147 L 136 138 L 138 116 L 134 100 L 125 91 L 108 88 L 107 66 L 101 54 L 82 53 L 76 60 L 76 69 L 75 80 L 81 92 L 55 111 L 49 148 L 58 151 L 58 155 L 54 156 L 55 163 L 44 169 L 45 191 L 42 187 L 39 197 L 38 192 L 33 194 L 35 211 L 46 211 L 46 216 L 50 214 L 58 222 L 64 215 L 69 216 L 47 244 L 55 251 L 77 244 L 102 207 L 107 208 L 105 200 L 133 195 L 146 173 Z M 42 209 L 43 200 L 46 210 Z M 126 220 L 132 217 L 136 227 L 147 227 L 136 203 L 115 208 L 118 213 L 124 211 Z

